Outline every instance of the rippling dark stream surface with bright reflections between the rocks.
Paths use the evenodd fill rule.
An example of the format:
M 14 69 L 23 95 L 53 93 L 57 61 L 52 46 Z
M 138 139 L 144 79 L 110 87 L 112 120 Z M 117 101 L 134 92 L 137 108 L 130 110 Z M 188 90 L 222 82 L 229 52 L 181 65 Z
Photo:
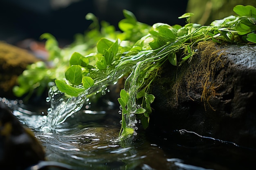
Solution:
M 164 135 L 139 128 L 133 139 L 119 141 L 121 115 L 109 101 L 104 111 L 84 106 L 54 130 L 43 130 L 46 112 L 0 99 L 45 148 L 46 161 L 26 170 L 236 170 L 254 164 L 255 150 L 187 130 Z

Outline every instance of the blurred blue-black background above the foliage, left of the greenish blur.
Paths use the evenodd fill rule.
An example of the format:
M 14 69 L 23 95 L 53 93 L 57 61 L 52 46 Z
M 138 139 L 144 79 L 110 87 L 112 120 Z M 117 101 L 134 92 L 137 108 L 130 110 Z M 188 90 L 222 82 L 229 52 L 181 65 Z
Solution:
M 116 28 L 124 18 L 123 9 L 135 14 L 139 22 L 184 25 L 177 17 L 186 12 L 187 0 L 0 0 L 0 40 L 9 44 L 49 32 L 63 43 L 83 33 L 91 23 L 89 12 Z

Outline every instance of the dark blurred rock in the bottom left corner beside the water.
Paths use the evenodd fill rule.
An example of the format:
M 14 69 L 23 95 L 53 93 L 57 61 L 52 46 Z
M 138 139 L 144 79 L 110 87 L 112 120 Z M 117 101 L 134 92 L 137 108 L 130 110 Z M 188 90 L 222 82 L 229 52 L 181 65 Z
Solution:
M 34 134 L 23 128 L 0 102 L 0 169 L 24 170 L 44 160 L 45 153 Z

